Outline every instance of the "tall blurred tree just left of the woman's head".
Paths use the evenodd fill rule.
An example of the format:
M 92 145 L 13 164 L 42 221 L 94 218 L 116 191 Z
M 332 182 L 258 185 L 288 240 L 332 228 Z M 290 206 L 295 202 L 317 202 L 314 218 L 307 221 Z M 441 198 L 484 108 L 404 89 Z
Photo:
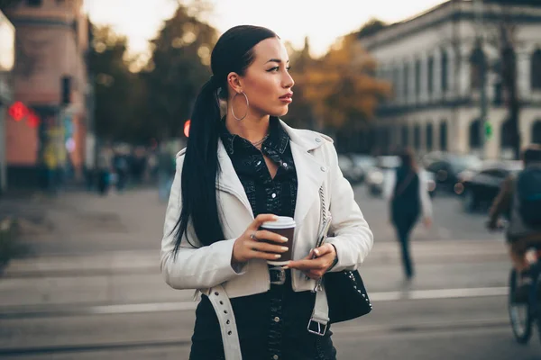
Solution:
M 142 76 L 148 89 L 158 139 L 179 137 L 201 86 L 210 76 L 210 54 L 217 31 L 179 5 L 152 40 L 152 56 Z

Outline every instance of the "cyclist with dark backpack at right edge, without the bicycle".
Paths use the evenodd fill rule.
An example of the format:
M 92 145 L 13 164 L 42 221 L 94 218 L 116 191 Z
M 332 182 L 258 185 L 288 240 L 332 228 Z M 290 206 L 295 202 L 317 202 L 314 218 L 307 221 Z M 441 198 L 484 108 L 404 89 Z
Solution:
M 497 229 L 501 215 L 509 218 L 506 238 L 509 255 L 518 276 L 515 302 L 526 302 L 532 277 L 525 257 L 527 247 L 541 246 L 541 145 L 527 146 L 522 152 L 524 169 L 503 182 L 494 200 L 489 229 Z

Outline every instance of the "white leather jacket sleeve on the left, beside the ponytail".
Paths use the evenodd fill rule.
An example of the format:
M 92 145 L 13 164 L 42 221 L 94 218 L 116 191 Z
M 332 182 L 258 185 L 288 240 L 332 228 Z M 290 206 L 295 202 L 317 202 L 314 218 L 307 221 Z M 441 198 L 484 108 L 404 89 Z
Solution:
M 177 170 L 171 186 L 170 199 L 163 226 L 161 239 L 161 274 L 165 282 L 175 289 L 205 289 L 243 275 L 242 269 L 231 265 L 235 238 L 216 241 L 206 247 L 193 247 L 186 236 L 182 238 L 179 252 L 174 255 L 175 226 L 182 208 L 180 177 L 183 157 L 177 158 Z M 188 232 L 195 234 L 188 224 Z M 195 235 L 190 235 L 192 243 L 198 242 Z

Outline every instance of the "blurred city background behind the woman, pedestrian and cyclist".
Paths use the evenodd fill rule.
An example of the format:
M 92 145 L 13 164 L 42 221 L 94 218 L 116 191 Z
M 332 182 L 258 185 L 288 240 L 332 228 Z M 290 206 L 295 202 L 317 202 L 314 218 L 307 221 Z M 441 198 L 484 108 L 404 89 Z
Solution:
M 375 235 L 374 311 L 334 327 L 340 358 L 541 358 L 483 226 L 541 143 L 539 0 L 1 0 L 0 357 L 188 358 L 197 302 L 161 279 L 161 229 L 211 50 L 243 23 L 285 41 L 284 120 L 335 139 Z M 410 282 L 382 197 L 402 147 L 434 207 Z

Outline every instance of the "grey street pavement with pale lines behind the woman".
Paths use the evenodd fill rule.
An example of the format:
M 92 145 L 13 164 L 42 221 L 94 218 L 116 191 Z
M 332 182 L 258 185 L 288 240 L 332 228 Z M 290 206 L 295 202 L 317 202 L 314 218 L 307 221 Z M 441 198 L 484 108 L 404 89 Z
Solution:
M 536 332 L 527 346 L 512 337 L 506 247 L 482 215 L 436 197 L 432 229 L 413 234 L 417 276 L 407 284 L 387 204 L 362 186 L 355 194 L 375 235 L 360 269 L 374 310 L 332 327 L 339 359 L 541 358 Z M 33 254 L 0 278 L 0 357 L 188 359 L 197 302 L 161 279 L 157 191 L 12 205 L 30 219 Z

